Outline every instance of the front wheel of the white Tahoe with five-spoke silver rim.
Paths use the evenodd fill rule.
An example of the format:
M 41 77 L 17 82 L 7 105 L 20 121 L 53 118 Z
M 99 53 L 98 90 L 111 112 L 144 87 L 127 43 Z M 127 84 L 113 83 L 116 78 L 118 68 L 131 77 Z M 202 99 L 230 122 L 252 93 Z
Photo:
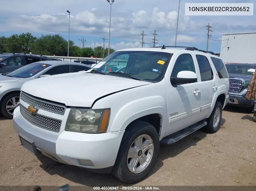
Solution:
M 131 123 L 123 135 L 112 174 L 124 183 L 144 180 L 155 166 L 159 145 L 158 133 L 151 124 Z

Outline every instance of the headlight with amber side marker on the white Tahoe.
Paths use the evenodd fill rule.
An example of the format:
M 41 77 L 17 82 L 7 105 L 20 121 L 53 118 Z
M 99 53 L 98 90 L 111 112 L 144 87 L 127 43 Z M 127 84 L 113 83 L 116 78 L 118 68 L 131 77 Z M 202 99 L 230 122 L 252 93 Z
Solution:
M 105 133 L 108 129 L 110 109 L 71 109 L 65 131 Z

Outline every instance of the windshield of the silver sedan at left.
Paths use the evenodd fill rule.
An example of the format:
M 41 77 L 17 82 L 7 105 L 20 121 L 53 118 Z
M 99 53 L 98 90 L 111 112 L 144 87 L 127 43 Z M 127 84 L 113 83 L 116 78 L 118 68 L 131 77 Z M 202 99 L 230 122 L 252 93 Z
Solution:
M 49 66 L 51 65 L 34 62 L 28 65 L 22 66 L 21 68 L 18 68 L 17 70 L 10 72 L 6 76 L 15 77 L 15 78 L 30 78 Z

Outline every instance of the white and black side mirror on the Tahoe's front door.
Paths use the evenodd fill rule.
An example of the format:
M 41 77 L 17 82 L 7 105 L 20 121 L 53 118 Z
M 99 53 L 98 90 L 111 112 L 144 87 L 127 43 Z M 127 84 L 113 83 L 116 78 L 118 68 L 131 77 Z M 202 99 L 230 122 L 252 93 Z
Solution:
M 197 75 L 191 71 L 181 71 L 177 77 L 171 77 L 171 84 L 181 85 L 187 83 L 194 83 L 197 81 Z

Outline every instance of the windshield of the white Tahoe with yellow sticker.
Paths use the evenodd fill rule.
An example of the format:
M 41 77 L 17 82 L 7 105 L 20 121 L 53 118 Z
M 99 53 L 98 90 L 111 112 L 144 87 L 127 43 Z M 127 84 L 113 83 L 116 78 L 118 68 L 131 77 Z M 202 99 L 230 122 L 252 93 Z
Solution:
M 141 80 L 159 82 L 164 78 L 171 56 L 171 53 L 154 51 L 116 51 L 92 69 L 107 75 L 127 77 L 112 73 L 122 72 Z

